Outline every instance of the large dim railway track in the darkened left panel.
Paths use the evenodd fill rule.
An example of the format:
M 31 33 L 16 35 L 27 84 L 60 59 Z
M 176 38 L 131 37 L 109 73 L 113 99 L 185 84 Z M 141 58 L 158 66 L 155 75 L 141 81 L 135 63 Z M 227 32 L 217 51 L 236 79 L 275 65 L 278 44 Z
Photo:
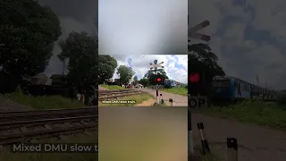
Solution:
M 1 118 L 4 116 L 4 119 Z M 0 145 L 97 131 L 97 108 L 0 113 Z

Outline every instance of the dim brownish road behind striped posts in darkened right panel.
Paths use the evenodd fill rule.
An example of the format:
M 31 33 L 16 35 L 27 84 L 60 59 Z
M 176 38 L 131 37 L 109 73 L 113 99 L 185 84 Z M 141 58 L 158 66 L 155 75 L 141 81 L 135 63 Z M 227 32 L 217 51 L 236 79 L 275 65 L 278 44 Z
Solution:
M 226 119 L 192 114 L 194 142 L 200 142 L 197 123 L 204 123 L 206 137 L 211 150 L 223 157 L 226 153 L 226 138 L 233 137 L 239 143 L 240 161 L 284 161 L 286 160 L 286 132 L 274 131 L 253 124 L 244 124 Z

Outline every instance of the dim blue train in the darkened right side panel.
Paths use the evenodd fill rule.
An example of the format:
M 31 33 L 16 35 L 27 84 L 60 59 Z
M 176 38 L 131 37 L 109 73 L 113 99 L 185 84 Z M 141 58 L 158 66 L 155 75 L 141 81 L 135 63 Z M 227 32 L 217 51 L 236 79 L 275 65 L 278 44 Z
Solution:
M 245 99 L 262 98 L 265 100 L 279 99 L 279 92 L 273 89 L 261 88 L 257 85 L 240 80 L 236 77 L 214 77 L 211 96 L 213 99 Z

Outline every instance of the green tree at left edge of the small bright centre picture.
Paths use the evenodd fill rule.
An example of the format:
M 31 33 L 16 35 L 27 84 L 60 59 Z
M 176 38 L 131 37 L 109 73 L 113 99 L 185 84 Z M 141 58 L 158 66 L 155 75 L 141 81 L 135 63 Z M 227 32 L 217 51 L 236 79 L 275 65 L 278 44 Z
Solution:
M 102 84 L 106 79 L 114 76 L 117 61 L 111 55 L 98 55 L 98 83 Z

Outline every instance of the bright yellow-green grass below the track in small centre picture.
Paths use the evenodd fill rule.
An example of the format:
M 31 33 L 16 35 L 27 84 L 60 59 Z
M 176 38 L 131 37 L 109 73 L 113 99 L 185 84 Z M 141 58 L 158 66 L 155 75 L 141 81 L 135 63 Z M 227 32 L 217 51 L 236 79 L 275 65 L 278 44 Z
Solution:
M 122 97 L 119 100 L 132 100 L 132 101 L 135 101 L 136 104 L 105 104 L 105 103 L 99 102 L 98 106 L 135 106 L 135 105 L 141 104 L 143 101 L 147 101 L 151 98 L 153 98 L 153 96 L 151 96 L 149 94 L 134 95 L 134 96 Z

